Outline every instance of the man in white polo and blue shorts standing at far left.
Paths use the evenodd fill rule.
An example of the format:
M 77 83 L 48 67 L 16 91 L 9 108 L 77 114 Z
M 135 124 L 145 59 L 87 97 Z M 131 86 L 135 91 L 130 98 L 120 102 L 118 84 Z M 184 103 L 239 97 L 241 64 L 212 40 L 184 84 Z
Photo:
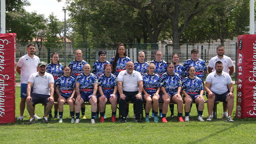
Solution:
M 20 116 L 18 120 L 23 120 L 23 113 L 26 106 L 26 98 L 27 98 L 27 80 L 32 73 L 36 73 L 36 67 L 40 62 L 38 56 L 34 55 L 36 52 L 36 48 L 34 44 L 27 45 L 27 54 L 22 56 L 19 59 L 17 64 L 16 71 L 21 75 L 21 102 L 19 104 Z M 33 92 L 33 88 L 31 88 L 31 92 Z M 35 108 L 34 108 L 35 109 Z M 35 110 L 34 110 L 35 113 Z M 41 119 L 37 115 L 34 114 L 36 119 Z

